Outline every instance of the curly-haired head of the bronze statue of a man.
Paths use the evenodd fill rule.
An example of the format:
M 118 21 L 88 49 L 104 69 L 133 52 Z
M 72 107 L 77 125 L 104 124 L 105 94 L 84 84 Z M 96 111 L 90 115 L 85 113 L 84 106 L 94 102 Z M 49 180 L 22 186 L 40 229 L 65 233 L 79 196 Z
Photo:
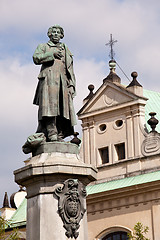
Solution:
M 58 37 L 58 40 L 57 40 L 58 42 L 59 42 L 60 39 L 62 39 L 64 37 L 64 30 L 58 24 L 55 24 L 48 29 L 47 35 L 50 38 L 50 40 L 53 41 L 53 42 L 54 42 L 53 38 L 54 38 L 55 34 Z

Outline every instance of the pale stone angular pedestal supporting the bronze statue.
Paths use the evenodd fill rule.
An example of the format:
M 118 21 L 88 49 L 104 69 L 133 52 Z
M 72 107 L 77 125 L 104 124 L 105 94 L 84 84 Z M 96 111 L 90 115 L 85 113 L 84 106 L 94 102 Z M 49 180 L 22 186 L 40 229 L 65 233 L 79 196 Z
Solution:
M 56 152 L 52 152 L 52 147 Z M 56 191 L 62 191 L 65 185 L 68 187 L 69 179 L 79 184 L 75 186 L 84 187 L 96 179 L 96 170 L 84 164 L 77 153 L 78 147 L 74 144 L 46 143 L 37 149 L 39 155 L 34 153 L 36 156 L 26 161 L 26 166 L 14 172 L 15 181 L 27 189 L 27 240 L 72 239 L 67 237 L 68 230 L 64 226 L 68 225 L 63 221 L 63 211 L 66 209 L 61 210 L 61 207 L 66 206 L 65 197 L 69 194 L 74 197 L 78 187 L 67 190 L 61 203 Z M 84 189 L 79 189 L 81 193 L 78 190 L 78 195 L 83 195 Z M 78 240 L 87 240 L 87 214 L 83 211 L 86 208 L 85 197 L 78 200 L 78 205 L 74 204 L 74 200 L 73 204 L 72 201 L 68 203 L 71 204 L 70 210 L 73 210 L 69 221 L 74 222 L 76 206 L 79 214 L 84 214 L 76 231 L 79 232 Z

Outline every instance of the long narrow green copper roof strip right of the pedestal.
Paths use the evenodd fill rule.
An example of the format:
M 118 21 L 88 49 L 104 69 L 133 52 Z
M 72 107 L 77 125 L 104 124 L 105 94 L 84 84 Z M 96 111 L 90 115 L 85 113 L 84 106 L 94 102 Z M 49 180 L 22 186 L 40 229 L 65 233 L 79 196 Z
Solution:
M 99 183 L 87 187 L 87 194 L 95 194 L 119 188 L 131 187 L 139 184 L 149 183 L 160 180 L 160 171 L 146 173 L 134 177 L 113 180 L 110 182 Z

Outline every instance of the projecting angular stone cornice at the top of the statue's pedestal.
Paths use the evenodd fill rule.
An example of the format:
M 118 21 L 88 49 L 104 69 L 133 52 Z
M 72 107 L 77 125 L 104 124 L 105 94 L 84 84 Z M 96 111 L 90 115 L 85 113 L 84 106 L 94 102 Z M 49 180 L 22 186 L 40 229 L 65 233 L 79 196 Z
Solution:
M 75 153 L 41 153 L 25 162 L 26 165 L 14 171 L 14 175 L 16 183 L 27 187 L 27 198 L 51 193 L 57 182 L 61 184 L 69 178 L 78 179 L 85 186 L 96 179 L 97 170 L 83 163 Z

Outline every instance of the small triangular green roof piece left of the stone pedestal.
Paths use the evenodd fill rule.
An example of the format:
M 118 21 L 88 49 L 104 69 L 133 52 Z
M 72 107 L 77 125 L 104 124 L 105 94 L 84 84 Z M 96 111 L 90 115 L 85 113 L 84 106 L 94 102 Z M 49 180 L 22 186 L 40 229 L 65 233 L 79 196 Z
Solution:
M 10 221 L 10 227 L 19 227 L 26 224 L 27 199 L 25 198 L 17 211 L 13 214 Z

